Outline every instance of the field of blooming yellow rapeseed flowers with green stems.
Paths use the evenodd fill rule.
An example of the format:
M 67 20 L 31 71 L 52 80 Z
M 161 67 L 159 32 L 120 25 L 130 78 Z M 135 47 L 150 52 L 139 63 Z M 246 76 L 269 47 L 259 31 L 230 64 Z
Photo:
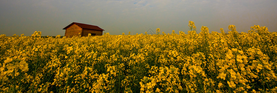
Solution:
M 0 92 L 277 92 L 277 33 L 0 36 Z

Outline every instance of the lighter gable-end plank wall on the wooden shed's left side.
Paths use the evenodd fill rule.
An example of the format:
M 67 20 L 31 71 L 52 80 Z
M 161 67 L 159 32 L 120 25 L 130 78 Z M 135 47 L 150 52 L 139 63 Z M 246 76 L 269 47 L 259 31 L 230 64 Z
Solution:
M 67 38 L 72 38 L 73 36 L 79 36 L 79 33 L 82 34 L 82 28 L 76 24 L 73 24 L 65 29 L 64 36 L 66 36 Z

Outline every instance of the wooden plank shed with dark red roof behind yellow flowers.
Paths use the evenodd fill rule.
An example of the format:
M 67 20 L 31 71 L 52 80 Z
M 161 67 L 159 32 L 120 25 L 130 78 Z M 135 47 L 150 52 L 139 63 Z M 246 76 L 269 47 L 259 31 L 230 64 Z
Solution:
M 92 36 L 101 36 L 103 34 L 104 29 L 99 28 L 95 25 L 90 24 L 82 24 L 82 23 L 76 23 L 73 22 L 66 26 L 65 28 L 65 34 L 67 38 L 72 38 L 73 36 L 79 36 L 79 33 L 81 36 L 88 36 L 90 33 Z

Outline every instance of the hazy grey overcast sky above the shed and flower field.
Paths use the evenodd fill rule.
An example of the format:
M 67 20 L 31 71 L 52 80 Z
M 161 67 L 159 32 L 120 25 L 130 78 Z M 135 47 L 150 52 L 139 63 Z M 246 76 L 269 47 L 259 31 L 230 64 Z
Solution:
M 72 22 L 96 25 L 103 33 L 176 33 L 189 30 L 195 22 L 209 32 L 228 31 L 235 25 L 239 33 L 251 26 L 277 29 L 277 0 L 0 0 L 0 34 L 64 36 Z M 149 32 L 148 32 L 149 33 Z

